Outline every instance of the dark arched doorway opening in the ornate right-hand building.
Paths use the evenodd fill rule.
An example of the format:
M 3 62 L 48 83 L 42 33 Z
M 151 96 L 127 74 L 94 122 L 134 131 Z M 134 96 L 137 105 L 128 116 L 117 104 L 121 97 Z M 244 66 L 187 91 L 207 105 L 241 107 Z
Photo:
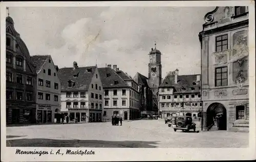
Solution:
M 219 130 L 227 130 L 227 110 L 221 103 L 212 103 L 207 109 L 207 127 L 216 125 Z

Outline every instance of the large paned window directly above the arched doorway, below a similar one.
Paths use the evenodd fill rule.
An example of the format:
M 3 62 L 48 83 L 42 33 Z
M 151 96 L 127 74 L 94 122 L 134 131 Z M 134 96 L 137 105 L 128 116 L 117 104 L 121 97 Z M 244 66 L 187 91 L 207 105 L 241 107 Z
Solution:
M 227 86 L 227 67 L 215 69 L 215 86 Z

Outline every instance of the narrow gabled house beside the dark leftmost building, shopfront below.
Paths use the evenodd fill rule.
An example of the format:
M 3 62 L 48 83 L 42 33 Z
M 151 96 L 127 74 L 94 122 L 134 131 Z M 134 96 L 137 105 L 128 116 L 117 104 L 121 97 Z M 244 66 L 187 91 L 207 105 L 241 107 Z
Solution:
M 39 123 L 60 122 L 55 115 L 61 109 L 58 68 L 50 55 L 31 56 L 31 61 L 37 73 L 36 119 Z

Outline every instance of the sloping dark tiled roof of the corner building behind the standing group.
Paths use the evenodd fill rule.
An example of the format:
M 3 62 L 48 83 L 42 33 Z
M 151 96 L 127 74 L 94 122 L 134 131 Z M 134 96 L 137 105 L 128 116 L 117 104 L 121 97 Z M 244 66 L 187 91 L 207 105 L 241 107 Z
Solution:
M 124 88 L 129 87 L 128 84 L 112 69 L 109 67 L 98 68 L 99 75 L 103 88 Z M 107 76 L 110 75 L 110 76 Z M 114 84 L 114 81 L 117 81 L 118 84 Z

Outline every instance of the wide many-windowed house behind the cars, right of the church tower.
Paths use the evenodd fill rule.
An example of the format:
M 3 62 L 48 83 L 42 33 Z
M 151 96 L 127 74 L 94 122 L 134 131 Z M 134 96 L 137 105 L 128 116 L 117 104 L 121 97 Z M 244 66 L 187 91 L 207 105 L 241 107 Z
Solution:
M 198 118 L 202 112 L 201 82 L 198 75 L 179 75 L 169 72 L 159 86 L 159 112 L 161 118 L 182 114 Z

